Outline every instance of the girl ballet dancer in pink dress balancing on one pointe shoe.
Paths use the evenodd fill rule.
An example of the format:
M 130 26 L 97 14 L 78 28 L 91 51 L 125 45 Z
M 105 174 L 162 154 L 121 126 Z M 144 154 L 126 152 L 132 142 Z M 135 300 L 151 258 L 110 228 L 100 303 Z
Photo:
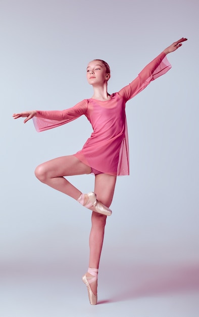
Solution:
M 97 59 L 91 61 L 87 67 L 87 81 L 93 87 L 92 98 L 84 99 L 74 107 L 62 111 L 32 110 L 13 114 L 15 119 L 26 117 L 24 123 L 33 118 L 37 131 L 66 124 L 82 114 L 92 125 L 93 133 L 80 151 L 74 155 L 45 162 L 35 170 L 35 175 L 41 182 L 73 197 L 81 205 L 92 210 L 89 268 L 82 278 L 87 286 L 91 305 L 97 303 L 98 266 L 106 218 L 112 213 L 109 207 L 113 199 L 116 177 L 129 175 L 125 103 L 171 68 L 166 55 L 177 50 L 186 40 L 182 37 L 174 42 L 144 67 L 132 83 L 117 93 L 108 93 L 110 68 L 105 61 Z M 90 173 L 95 175 L 95 183 L 94 192 L 88 194 L 83 194 L 64 177 Z

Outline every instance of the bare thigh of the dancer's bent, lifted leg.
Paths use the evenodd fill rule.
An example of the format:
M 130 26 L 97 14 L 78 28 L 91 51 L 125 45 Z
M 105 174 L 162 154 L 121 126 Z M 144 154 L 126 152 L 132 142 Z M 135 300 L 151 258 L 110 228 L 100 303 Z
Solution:
M 77 159 L 74 155 L 57 157 L 51 161 L 37 166 L 35 175 L 45 178 L 54 178 L 60 176 L 72 176 L 90 174 L 91 168 Z

